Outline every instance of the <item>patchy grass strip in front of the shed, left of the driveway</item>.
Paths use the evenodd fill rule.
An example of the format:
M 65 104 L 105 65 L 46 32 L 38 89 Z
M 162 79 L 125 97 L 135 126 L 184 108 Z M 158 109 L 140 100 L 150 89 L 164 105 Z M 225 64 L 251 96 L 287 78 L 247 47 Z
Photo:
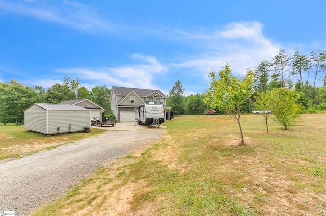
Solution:
M 40 150 L 50 150 L 86 137 L 96 136 L 105 130 L 92 128 L 90 133 L 76 132 L 44 135 L 24 128 L 23 125 L 0 125 L 0 161 L 33 154 Z

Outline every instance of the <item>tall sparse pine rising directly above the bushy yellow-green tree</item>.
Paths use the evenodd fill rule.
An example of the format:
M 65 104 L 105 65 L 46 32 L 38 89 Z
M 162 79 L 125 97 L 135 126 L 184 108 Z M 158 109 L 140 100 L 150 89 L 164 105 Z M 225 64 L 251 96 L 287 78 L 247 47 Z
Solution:
M 281 77 L 281 87 L 285 87 L 286 72 L 289 70 L 291 57 L 284 49 L 281 49 L 276 56 L 273 57 L 274 78 Z

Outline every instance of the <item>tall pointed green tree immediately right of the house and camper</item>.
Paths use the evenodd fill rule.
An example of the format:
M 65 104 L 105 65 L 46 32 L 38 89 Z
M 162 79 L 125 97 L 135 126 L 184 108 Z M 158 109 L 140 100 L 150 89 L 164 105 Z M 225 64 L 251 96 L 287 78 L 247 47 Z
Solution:
M 180 80 L 177 80 L 169 91 L 167 105 L 177 116 L 184 111 L 184 88 Z

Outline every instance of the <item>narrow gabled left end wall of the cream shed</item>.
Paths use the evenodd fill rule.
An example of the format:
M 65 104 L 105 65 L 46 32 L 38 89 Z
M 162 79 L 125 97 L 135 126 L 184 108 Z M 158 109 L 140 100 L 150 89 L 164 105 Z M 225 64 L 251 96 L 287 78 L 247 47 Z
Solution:
M 46 134 L 46 110 L 33 105 L 25 110 L 25 128 Z

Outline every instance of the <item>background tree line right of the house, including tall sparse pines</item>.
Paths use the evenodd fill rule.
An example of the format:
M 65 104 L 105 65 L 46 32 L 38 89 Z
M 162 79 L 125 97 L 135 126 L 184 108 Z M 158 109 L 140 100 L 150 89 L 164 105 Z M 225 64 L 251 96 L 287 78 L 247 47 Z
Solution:
M 302 113 L 326 110 L 326 52 L 317 50 L 308 54 L 295 51 L 290 55 L 279 50 L 270 60 L 262 60 L 253 69 L 252 94 L 241 105 L 242 113 L 251 113 L 255 108 L 256 97 L 273 89 L 287 88 L 298 93 L 298 103 Z M 213 68 L 210 69 L 211 72 Z M 321 82 L 321 86 L 318 85 Z M 184 96 L 184 88 L 177 80 L 168 93 L 167 105 L 178 114 L 198 115 L 209 109 L 224 113 L 218 107 L 203 102 L 205 93 Z

